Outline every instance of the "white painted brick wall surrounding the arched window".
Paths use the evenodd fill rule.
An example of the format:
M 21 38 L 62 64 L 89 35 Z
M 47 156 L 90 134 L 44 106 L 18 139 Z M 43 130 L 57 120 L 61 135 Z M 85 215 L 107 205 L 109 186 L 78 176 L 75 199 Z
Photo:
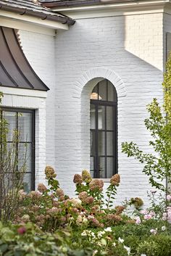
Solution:
M 150 186 L 142 166 L 122 154 L 120 144 L 135 141 L 150 152 L 143 120 L 146 104 L 154 97 L 162 101 L 162 25 L 162 14 L 101 17 L 77 20 L 69 31 L 57 33 L 56 166 L 70 194 L 74 173 L 90 165 L 89 94 L 96 83 L 86 83 L 96 77 L 110 78 L 104 70 L 112 70 L 125 90 L 118 102 L 122 183 L 117 202 L 125 197 L 146 199 Z

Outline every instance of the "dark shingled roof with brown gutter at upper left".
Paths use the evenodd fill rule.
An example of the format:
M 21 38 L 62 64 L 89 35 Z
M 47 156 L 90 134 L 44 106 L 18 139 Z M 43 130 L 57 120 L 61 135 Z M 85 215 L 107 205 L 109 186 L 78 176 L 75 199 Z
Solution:
M 0 0 L 0 10 L 17 12 L 20 15 L 32 15 L 42 20 L 54 20 L 63 24 L 73 25 L 75 20 L 47 7 L 43 7 L 40 1 L 36 0 Z

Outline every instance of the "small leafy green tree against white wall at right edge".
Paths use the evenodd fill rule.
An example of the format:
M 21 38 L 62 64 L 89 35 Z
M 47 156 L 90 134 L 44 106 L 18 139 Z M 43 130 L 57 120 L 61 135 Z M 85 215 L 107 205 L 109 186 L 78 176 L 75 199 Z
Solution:
M 149 141 L 149 145 L 153 147 L 155 153 L 144 153 L 133 142 L 122 143 L 122 152 L 143 163 L 143 173 L 149 176 L 151 186 L 162 191 L 167 191 L 167 186 L 164 186 L 162 181 L 164 179 L 169 183 L 171 181 L 171 57 L 166 67 L 167 71 L 162 83 L 163 107 L 159 107 L 157 99 L 153 99 L 151 104 L 147 105 L 149 117 L 144 120 L 153 138 Z

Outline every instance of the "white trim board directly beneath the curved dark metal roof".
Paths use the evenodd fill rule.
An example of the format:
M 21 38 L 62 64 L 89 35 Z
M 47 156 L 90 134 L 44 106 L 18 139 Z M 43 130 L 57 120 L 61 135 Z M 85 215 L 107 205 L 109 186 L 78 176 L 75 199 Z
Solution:
M 22 88 L 9 88 L 9 87 L 0 87 L 0 91 L 3 94 L 10 94 L 10 95 L 18 95 L 18 96 L 32 96 L 37 98 L 46 98 L 47 92 L 46 91 L 38 91 L 38 90 L 29 90 L 29 89 L 22 89 Z

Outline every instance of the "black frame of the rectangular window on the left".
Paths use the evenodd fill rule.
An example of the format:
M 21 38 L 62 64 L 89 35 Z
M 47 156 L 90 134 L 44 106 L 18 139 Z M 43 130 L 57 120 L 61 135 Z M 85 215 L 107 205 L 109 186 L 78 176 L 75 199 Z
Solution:
M 25 108 L 15 108 L 15 107 L 1 107 L 0 108 L 0 117 L 2 118 L 2 113 L 3 112 L 17 112 L 17 113 L 31 113 L 32 114 L 32 136 L 31 136 L 31 144 L 32 144 L 32 148 L 31 148 L 31 170 L 30 172 L 26 171 L 25 173 L 31 173 L 31 190 L 35 190 L 36 187 L 36 181 L 35 181 L 35 169 L 36 169 L 36 115 L 35 115 L 35 110 L 30 110 L 30 109 L 25 109 Z M 18 128 L 18 114 L 17 114 L 17 128 Z M 10 143 L 11 141 L 7 141 L 7 143 Z M 20 141 L 20 143 L 28 143 L 26 141 Z M 30 142 L 29 142 L 30 143 Z

